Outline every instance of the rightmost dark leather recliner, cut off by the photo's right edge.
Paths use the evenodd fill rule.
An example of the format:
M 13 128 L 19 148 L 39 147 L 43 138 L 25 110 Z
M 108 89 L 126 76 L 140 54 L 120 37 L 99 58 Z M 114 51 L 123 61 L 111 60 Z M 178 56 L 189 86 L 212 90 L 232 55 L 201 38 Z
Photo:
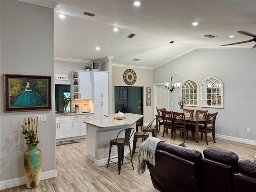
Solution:
M 256 162 L 241 160 L 234 173 L 236 192 L 256 191 Z

